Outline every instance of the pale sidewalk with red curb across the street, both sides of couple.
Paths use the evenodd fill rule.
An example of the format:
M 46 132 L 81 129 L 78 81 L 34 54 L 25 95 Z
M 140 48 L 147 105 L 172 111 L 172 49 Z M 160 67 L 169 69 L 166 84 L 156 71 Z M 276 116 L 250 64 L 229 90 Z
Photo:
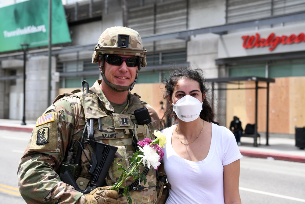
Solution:
M 32 132 L 36 121 L 25 122 L 26 125 L 21 125 L 21 120 L 0 119 L 0 130 Z M 239 150 L 243 156 L 305 163 L 305 150 L 295 146 L 295 139 L 269 137 L 269 146 L 266 146 L 266 139 L 262 137 L 258 147 L 253 146 L 253 138 L 242 137 L 240 140 Z

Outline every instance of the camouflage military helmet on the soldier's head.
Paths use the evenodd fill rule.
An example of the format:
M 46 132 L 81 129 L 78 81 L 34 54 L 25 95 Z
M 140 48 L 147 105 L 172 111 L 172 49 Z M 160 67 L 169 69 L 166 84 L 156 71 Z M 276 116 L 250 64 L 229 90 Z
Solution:
M 131 28 L 115 26 L 102 32 L 94 47 L 92 63 L 95 64 L 101 54 L 132 55 L 139 56 L 142 67 L 145 67 L 146 52 L 138 32 Z

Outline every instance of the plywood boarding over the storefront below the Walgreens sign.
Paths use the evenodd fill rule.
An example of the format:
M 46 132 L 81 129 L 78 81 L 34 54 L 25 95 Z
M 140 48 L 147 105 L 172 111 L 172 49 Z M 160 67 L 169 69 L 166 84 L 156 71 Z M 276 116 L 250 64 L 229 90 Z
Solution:
M 259 87 L 267 87 L 260 82 Z M 228 85 L 236 88 L 236 85 Z M 240 88 L 254 88 L 254 82 L 245 82 Z M 269 89 L 269 132 L 279 134 L 295 134 L 295 126 L 305 126 L 305 77 L 276 78 L 270 83 Z M 258 132 L 266 132 L 267 120 L 267 90 L 258 90 Z M 227 91 L 227 127 L 233 116 L 242 121 L 242 127 L 247 123 L 255 123 L 255 89 Z

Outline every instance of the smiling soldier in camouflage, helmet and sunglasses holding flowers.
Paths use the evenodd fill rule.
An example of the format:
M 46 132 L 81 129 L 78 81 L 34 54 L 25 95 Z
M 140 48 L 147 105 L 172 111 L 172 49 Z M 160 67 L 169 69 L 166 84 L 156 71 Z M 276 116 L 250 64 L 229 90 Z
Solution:
M 107 28 L 94 48 L 92 63 L 96 62 L 102 80 L 97 80 L 89 91 L 83 87 L 83 92 L 59 95 L 36 122 L 18 167 L 19 190 L 27 203 L 127 203 L 126 196 L 109 190 L 121 174 L 116 163 L 127 168 L 137 140 L 152 139 L 153 131 L 161 128 L 156 111 L 129 91 L 135 85 L 138 71 L 146 66 L 146 49 L 135 30 Z M 138 124 L 134 114 L 143 107 L 151 117 L 148 125 Z M 88 171 L 94 149 L 86 139 L 82 144 L 86 129 L 87 141 L 91 139 L 118 149 L 104 187 L 84 194 L 64 183 L 60 175 L 65 166 L 79 166 L 78 187 L 84 190 L 91 185 L 92 175 Z M 78 143 L 84 148 L 82 154 L 77 153 L 81 149 Z M 156 201 L 155 171 L 151 168 L 146 173 L 146 184 L 141 182 L 140 190 L 131 188 L 133 203 Z M 131 177 L 126 186 L 133 183 Z

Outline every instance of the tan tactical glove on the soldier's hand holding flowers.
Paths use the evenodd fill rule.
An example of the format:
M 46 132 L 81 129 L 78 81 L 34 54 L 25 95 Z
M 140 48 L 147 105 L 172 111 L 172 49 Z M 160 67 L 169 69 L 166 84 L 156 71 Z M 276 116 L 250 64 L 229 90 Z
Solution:
M 115 190 L 109 190 L 110 186 L 97 187 L 88 194 L 82 195 L 79 204 L 115 204 L 119 196 Z

